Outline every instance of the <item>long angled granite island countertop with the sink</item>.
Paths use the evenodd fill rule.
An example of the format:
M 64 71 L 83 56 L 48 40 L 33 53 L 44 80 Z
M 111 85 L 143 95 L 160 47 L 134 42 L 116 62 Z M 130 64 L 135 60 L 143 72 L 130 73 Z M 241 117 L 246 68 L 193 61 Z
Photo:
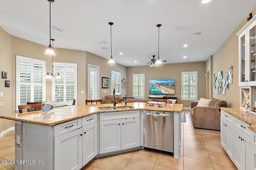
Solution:
M 124 106 L 124 103 L 116 104 L 116 106 Z M 14 121 L 22 121 L 27 123 L 34 123 L 38 125 L 53 126 L 95 113 L 106 113 L 115 111 L 129 111 L 129 110 L 151 110 L 151 111 L 167 111 L 167 112 L 181 112 L 182 104 L 173 104 L 170 107 L 154 107 L 146 103 L 127 103 L 127 106 L 134 108 L 130 109 L 114 109 L 114 110 L 101 110 L 98 107 L 113 107 L 113 104 L 96 104 L 96 105 L 74 105 L 65 107 L 56 107 L 52 114 L 42 114 L 42 110 L 17 113 L 13 115 L 0 116 L 2 119 L 10 119 Z

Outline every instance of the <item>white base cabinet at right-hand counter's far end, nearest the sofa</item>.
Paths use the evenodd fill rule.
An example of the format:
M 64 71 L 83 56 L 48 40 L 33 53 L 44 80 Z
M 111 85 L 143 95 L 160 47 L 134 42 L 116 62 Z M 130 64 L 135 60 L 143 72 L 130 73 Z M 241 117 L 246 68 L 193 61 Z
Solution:
M 230 117 L 232 115 L 228 115 Z M 233 161 L 233 129 L 234 126 L 223 117 L 220 117 L 220 143 Z

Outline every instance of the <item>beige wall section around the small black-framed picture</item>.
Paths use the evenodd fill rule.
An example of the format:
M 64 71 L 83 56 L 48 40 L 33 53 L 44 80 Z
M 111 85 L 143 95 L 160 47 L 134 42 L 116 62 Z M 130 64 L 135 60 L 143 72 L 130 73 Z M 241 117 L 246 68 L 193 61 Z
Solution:
M 108 77 L 109 81 L 111 82 L 111 70 L 120 72 L 121 78 L 124 78 L 126 80 L 126 70 L 127 67 L 123 66 L 121 64 L 108 64 L 108 60 L 104 59 L 102 57 L 99 57 L 97 55 L 94 55 L 92 53 L 86 52 L 86 75 L 88 74 L 88 64 L 92 64 L 95 66 L 100 67 L 100 99 L 105 99 L 106 95 L 112 95 L 111 94 L 111 87 L 110 88 L 102 88 L 102 77 Z M 111 83 L 110 83 L 111 84 Z M 86 94 L 88 94 L 88 84 L 86 84 Z M 102 90 L 106 90 L 106 93 L 102 93 Z M 126 89 L 121 89 L 121 94 L 124 97 L 126 94 Z M 88 95 L 86 95 L 86 99 L 88 99 Z

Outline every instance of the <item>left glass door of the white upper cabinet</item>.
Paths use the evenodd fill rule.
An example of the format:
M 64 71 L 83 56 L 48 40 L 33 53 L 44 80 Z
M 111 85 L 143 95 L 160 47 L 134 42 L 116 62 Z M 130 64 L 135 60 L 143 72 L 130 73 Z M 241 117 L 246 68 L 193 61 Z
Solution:
M 247 49 L 247 34 L 246 30 L 242 32 L 239 35 L 239 41 L 238 41 L 238 56 L 239 56 L 239 75 L 238 75 L 238 81 L 239 86 L 246 86 L 247 85 L 247 77 L 246 77 L 246 49 Z

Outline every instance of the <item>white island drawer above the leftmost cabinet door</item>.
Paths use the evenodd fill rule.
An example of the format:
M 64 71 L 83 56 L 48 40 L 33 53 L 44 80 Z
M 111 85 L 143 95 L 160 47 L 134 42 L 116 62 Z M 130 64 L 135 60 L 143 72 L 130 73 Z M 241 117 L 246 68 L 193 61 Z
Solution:
M 65 123 L 61 123 L 59 125 L 54 126 L 54 137 L 58 137 L 60 135 L 63 135 L 65 133 L 74 131 L 78 128 L 82 127 L 82 120 L 81 118 L 75 119 L 72 121 L 68 121 Z

